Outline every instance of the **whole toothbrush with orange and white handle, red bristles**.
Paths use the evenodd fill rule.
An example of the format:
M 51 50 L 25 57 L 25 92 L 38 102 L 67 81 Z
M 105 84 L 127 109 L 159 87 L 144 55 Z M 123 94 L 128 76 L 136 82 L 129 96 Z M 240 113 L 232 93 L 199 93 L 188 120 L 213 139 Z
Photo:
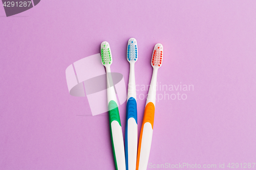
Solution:
M 153 67 L 153 74 L 148 90 L 144 116 L 140 131 L 138 156 L 137 156 L 137 170 L 144 170 L 147 168 L 148 158 L 150 157 L 150 148 L 153 135 L 153 125 L 155 116 L 156 104 L 156 86 L 157 86 L 157 71 L 162 65 L 163 45 L 158 43 L 154 47 L 152 54 L 151 65 Z

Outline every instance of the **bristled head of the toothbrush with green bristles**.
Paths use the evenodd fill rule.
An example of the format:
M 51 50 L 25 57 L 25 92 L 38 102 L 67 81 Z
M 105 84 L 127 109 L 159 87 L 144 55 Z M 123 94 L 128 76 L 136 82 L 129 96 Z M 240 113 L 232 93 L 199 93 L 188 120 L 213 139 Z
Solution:
M 110 66 L 113 62 L 112 54 L 110 50 L 110 44 L 106 41 L 100 44 L 100 55 L 101 55 L 101 62 L 104 66 Z

